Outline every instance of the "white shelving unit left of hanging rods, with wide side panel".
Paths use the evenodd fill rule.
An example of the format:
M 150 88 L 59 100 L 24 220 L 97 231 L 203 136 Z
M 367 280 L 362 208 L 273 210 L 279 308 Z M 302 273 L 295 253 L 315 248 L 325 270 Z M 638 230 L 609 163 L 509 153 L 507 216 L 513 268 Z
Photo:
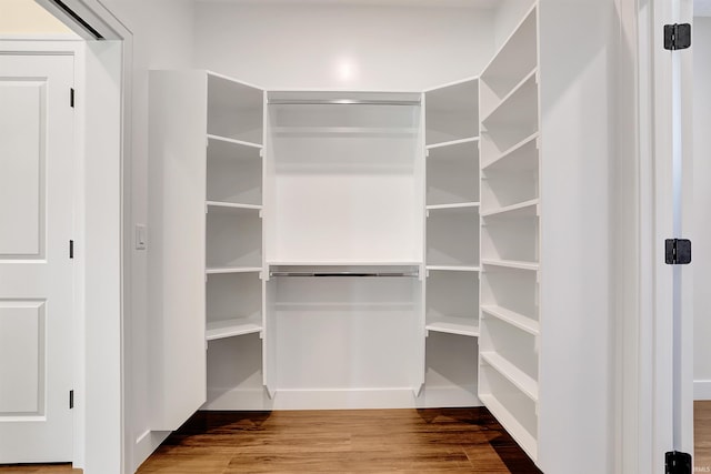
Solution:
M 240 387 L 211 365 L 261 364 L 253 344 L 227 361 L 212 345 L 263 331 L 264 99 L 209 71 L 151 71 L 150 101 L 151 375 L 172 394 L 154 401 L 151 427 L 162 431 Z

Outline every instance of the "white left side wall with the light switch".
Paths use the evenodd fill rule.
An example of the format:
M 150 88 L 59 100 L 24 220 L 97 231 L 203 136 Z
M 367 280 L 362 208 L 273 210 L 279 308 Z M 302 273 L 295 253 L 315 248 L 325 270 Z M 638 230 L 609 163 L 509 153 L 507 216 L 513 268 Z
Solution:
M 3 1 L 3 0 L 2 0 Z M 149 432 L 147 255 L 133 250 L 134 223 L 148 215 L 148 71 L 184 69 L 192 58 L 192 3 L 188 0 L 104 0 L 132 32 L 131 160 L 124 165 L 124 383 L 127 472 L 158 446 L 164 434 Z M 150 223 L 149 223 L 150 250 Z M 139 442 L 140 441 L 140 442 Z

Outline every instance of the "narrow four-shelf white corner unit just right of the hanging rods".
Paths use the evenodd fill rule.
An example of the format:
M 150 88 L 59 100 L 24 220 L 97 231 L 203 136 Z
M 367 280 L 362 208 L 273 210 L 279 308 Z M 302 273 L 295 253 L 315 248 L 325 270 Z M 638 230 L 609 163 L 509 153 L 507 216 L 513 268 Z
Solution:
M 450 354 L 449 365 L 473 364 L 479 336 L 480 160 L 479 81 L 469 79 L 424 93 L 425 302 L 428 383 L 451 337 L 467 337 L 470 360 Z M 430 337 L 432 333 L 449 339 Z M 464 353 L 465 354 L 465 353 Z M 464 382 L 475 386 L 474 380 Z M 475 389 L 474 389 L 475 391 Z M 479 404 L 475 393 L 470 404 Z

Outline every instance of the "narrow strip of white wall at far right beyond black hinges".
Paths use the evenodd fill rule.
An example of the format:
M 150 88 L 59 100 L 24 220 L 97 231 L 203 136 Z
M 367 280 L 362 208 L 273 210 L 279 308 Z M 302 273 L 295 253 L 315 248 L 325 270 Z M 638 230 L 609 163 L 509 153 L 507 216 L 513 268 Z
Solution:
M 694 399 L 711 400 L 711 18 L 693 22 L 693 379 Z

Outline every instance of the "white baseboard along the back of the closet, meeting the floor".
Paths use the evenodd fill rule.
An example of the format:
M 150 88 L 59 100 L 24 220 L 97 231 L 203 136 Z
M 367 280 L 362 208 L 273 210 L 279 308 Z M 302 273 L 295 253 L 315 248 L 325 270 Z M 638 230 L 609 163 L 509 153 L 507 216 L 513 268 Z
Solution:
M 368 410 L 481 406 L 474 386 L 425 386 L 414 396 L 412 389 L 208 391 L 201 410 Z

